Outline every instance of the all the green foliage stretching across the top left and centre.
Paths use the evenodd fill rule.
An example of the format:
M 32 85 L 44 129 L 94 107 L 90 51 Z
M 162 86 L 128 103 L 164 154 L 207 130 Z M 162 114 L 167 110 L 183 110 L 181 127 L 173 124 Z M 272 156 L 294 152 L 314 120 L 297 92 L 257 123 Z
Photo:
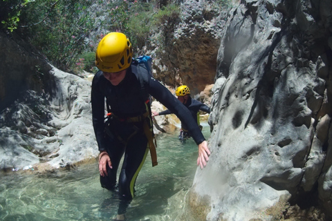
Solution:
M 107 32 L 124 32 L 142 48 L 151 30 L 172 30 L 181 12 L 174 3 L 158 10 L 145 0 L 0 0 L 0 6 L 1 30 L 18 33 L 54 66 L 75 73 L 95 71 L 95 49 Z M 95 23 L 104 33 L 91 35 Z

